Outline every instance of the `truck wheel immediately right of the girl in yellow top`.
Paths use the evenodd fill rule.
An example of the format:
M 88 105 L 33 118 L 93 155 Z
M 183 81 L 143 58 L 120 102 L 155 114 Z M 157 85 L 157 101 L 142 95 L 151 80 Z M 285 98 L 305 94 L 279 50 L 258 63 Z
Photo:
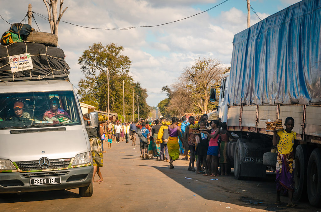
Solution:
M 263 159 L 264 160 L 264 159 Z M 306 145 L 298 145 L 294 157 L 294 193 L 293 198 L 300 201 L 307 197 L 308 152 Z

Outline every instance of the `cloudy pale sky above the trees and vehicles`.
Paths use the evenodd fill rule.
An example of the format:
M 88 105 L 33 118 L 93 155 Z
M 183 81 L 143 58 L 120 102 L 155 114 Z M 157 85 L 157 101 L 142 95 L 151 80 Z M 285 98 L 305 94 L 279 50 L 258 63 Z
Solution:
M 58 0 L 59 1 L 59 0 Z M 65 0 L 62 20 L 92 28 L 150 26 L 179 20 L 205 11 L 223 0 Z M 251 0 L 263 20 L 299 0 Z M 2 0 L 0 14 L 9 23 L 20 22 L 32 4 L 32 11 L 47 16 L 42 0 Z M 40 31 L 50 32 L 48 21 L 35 15 Z M 251 11 L 251 25 L 258 22 Z M 24 23 L 23 21 L 22 23 Z M 2 33 L 10 27 L 0 20 Z M 32 27 L 38 29 L 35 21 Z M 129 30 L 85 29 L 61 22 L 59 48 L 71 67 L 70 80 L 77 87 L 82 78 L 77 63 L 93 43 L 116 43 L 132 61 L 130 74 L 148 91 L 147 103 L 157 106 L 166 98 L 161 87 L 175 83 L 183 69 L 200 57 L 218 58 L 230 65 L 234 34 L 247 28 L 246 0 L 229 0 L 214 9 L 168 25 Z

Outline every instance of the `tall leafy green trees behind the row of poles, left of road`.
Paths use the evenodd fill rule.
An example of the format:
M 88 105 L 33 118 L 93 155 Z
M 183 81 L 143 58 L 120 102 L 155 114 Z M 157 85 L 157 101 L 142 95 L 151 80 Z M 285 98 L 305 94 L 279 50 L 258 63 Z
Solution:
M 106 46 L 94 43 L 78 58 L 84 77 L 78 82 L 80 101 L 91 104 L 99 110 L 107 111 L 107 68 L 109 71 L 109 97 L 111 112 L 123 115 L 123 80 L 125 84 L 125 115 L 126 120 L 133 116 L 133 91 L 134 104 L 137 113 L 137 94 L 140 99 L 140 116 L 147 116 L 149 106 L 146 103 L 147 93 L 139 83 L 128 75 L 131 61 L 122 54 L 124 48 L 114 43 Z M 147 111 L 148 110 L 148 111 Z

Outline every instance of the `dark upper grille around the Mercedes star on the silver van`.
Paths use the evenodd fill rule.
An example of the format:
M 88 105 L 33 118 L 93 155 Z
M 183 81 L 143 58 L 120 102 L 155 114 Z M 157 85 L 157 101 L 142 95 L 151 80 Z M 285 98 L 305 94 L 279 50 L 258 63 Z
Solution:
M 16 164 L 22 171 L 32 171 L 41 169 L 66 168 L 69 166 L 70 161 L 71 158 L 50 159 L 50 165 L 47 168 L 41 168 L 39 165 L 39 160 L 20 161 L 16 162 Z

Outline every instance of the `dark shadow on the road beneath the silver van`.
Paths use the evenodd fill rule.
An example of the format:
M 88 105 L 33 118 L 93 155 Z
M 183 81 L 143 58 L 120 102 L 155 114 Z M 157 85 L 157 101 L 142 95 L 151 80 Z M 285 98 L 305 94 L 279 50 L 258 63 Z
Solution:
M 26 192 L 14 194 L 0 194 L 0 203 L 13 203 L 13 202 L 32 202 L 42 200 L 58 200 L 79 198 L 78 193 L 71 191 L 46 191 L 46 192 Z

